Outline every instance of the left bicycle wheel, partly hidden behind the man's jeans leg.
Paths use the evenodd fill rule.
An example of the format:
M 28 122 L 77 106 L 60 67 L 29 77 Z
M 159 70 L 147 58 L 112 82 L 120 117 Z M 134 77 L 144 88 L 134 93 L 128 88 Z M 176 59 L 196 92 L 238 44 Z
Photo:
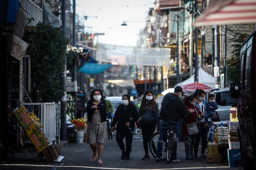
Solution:
M 152 154 L 152 156 L 154 156 L 154 158 L 156 158 L 156 152 L 157 152 L 157 142 L 158 142 L 158 138 L 159 138 L 159 134 L 160 132 L 156 132 L 154 133 L 150 140 L 149 140 L 149 150 Z M 163 147 L 163 151 L 162 151 L 162 157 L 161 157 L 161 161 L 165 161 L 166 160 L 166 150 L 164 150 L 165 147 Z

